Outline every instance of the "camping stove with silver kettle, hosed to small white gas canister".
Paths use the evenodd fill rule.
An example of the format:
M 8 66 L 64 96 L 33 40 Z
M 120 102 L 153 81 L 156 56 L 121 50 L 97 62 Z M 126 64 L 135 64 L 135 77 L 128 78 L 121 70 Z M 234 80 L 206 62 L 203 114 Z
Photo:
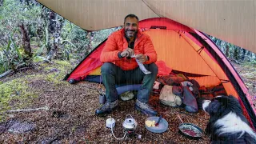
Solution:
M 115 126 L 114 118 L 106 119 L 106 127 L 111 129 L 111 132 L 112 132 L 114 138 L 116 138 L 118 140 L 122 140 L 123 138 L 127 138 L 128 136 L 137 134 L 137 133 L 135 133 L 135 130 L 136 130 L 137 126 L 138 126 L 138 122 L 136 122 L 135 119 L 130 114 L 128 114 L 126 116 L 125 121 L 122 122 L 122 128 L 123 128 L 124 133 L 125 133 L 122 138 L 117 138 L 114 135 L 114 131 L 113 131 L 114 126 Z M 138 135 L 138 138 L 142 138 L 141 134 L 137 134 L 137 135 Z

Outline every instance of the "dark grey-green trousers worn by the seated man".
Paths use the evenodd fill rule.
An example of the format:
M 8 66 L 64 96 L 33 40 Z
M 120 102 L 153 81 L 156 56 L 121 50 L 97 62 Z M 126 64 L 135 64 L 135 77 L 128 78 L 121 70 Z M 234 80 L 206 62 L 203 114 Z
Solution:
M 144 74 L 139 67 L 134 70 L 122 70 L 111 62 L 102 65 L 102 82 L 106 88 L 106 101 L 114 102 L 118 99 L 116 85 L 142 84 L 138 90 L 137 98 L 141 102 L 148 102 L 150 92 L 158 74 L 158 66 L 154 63 L 144 65 L 151 74 Z

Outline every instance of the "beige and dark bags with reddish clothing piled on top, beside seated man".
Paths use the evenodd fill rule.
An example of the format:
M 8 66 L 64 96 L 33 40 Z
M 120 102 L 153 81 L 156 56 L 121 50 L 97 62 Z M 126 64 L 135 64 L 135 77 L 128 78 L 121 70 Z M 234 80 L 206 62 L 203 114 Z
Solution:
M 157 79 L 162 86 L 159 101 L 166 106 L 184 107 L 186 111 L 198 112 L 199 84 L 183 74 L 160 75 Z M 159 90 L 158 90 L 159 91 Z

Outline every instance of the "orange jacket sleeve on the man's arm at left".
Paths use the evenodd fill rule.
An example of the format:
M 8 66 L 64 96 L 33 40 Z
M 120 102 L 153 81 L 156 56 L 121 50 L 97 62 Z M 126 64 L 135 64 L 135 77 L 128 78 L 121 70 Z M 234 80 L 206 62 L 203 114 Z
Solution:
M 118 58 L 118 46 L 115 42 L 114 35 L 111 34 L 106 40 L 106 44 L 103 47 L 102 54 L 100 56 L 101 62 L 114 62 L 119 60 Z

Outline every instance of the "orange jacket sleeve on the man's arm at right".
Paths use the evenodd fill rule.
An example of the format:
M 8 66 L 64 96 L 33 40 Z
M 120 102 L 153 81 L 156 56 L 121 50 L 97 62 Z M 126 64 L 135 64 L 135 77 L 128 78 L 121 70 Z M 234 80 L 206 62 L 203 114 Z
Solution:
M 146 56 L 148 56 L 148 60 L 144 62 L 145 64 L 154 63 L 158 59 L 158 54 L 154 50 L 153 43 L 148 35 L 146 35 L 146 42 L 144 44 L 144 52 Z

